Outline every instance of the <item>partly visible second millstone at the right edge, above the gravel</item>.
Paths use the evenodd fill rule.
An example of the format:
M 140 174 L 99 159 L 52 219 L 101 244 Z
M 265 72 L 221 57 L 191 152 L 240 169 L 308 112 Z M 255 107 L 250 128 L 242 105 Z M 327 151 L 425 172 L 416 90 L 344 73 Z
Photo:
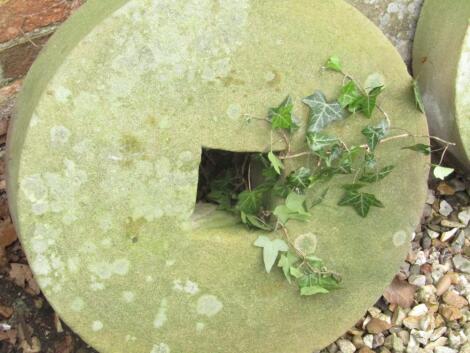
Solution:
M 413 72 L 431 132 L 457 144 L 470 170 L 470 2 L 426 0 L 413 48 Z

